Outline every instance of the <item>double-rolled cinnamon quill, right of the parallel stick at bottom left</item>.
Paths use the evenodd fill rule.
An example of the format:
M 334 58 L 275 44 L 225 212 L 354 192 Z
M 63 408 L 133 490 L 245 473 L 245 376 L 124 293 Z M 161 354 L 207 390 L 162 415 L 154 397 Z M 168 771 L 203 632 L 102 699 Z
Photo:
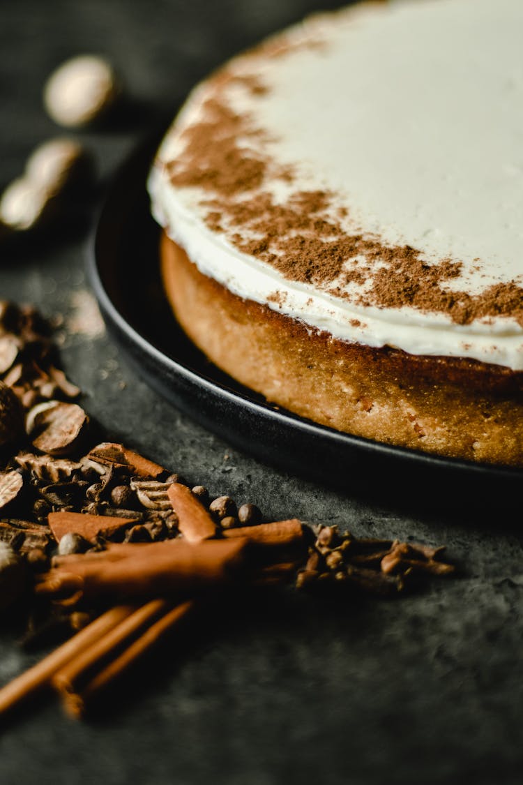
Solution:
M 159 610 L 165 610 L 159 618 L 153 620 L 150 626 L 145 629 L 131 642 L 133 632 L 128 633 L 133 623 L 133 617 L 126 619 L 110 636 L 95 648 L 86 652 L 82 661 L 75 661 L 60 670 L 53 678 L 53 686 L 60 692 L 67 714 L 71 717 L 82 717 L 86 707 L 100 696 L 113 681 L 122 677 L 126 670 L 129 670 L 138 659 L 154 646 L 158 645 L 162 639 L 170 633 L 173 628 L 182 623 L 195 608 L 196 603 L 192 600 L 177 604 L 165 610 L 165 601 L 152 601 L 147 606 L 140 608 L 143 616 L 144 625 L 147 624 L 147 616 L 158 615 Z M 151 608 L 147 612 L 147 608 Z M 138 619 L 140 612 L 134 616 Z M 140 625 L 141 626 L 141 625 Z M 121 649 L 121 651 L 119 651 Z M 115 652 L 118 652 L 113 656 Z M 109 659 L 110 658 L 110 659 Z M 100 667 L 107 659 L 107 664 Z M 96 673 L 93 673 L 97 670 Z

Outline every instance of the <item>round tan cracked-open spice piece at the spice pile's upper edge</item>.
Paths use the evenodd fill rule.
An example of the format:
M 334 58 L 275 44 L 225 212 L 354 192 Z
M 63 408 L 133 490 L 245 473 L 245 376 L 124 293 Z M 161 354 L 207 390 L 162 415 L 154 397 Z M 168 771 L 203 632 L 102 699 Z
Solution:
M 89 418 L 78 403 L 51 400 L 38 403 L 27 414 L 26 429 L 31 444 L 48 455 L 71 454 L 84 435 Z

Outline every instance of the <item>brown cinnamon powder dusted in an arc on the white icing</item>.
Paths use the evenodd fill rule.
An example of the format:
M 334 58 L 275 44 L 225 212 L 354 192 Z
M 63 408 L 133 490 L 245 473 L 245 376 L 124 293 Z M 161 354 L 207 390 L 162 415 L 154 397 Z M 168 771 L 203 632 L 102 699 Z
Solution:
M 248 58 L 245 58 L 248 59 Z M 292 166 L 271 158 L 271 137 L 249 112 L 233 111 L 227 89 L 242 87 L 263 100 L 267 87 L 257 75 L 231 74 L 211 80 L 202 119 L 181 134 L 183 153 L 166 164 L 177 188 L 201 188 L 205 221 L 213 232 L 245 254 L 272 265 L 286 279 L 311 283 L 357 305 L 443 312 L 455 323 L 510 316 L 523 326 L 523 288 L 497 283 L 471 295 L 445 285 L 463 272 L 460 261 L 428 263 L 411 246 L 387 246 L 379 238 L 343 228 L 345 208 L 327 191 L 292 191 Z M 289 195 L 277 201 L 274 181 Z M 347 287 L 348 290 L 347 290 Z

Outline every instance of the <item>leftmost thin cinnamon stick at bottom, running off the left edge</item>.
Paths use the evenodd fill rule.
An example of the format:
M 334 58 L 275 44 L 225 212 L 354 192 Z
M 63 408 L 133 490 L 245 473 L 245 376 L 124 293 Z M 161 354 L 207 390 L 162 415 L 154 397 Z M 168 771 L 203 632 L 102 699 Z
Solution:
M 114 629 L 133 611 L 132 605 L 118 605 L 111 608 L 79 633 L 76 633 L 69 641 L 56 648 L 45 659 L 10 681 L 0 689 L 0 714 L 5 714 L 6 711 L 21 703 L 34 692 L 49 686 L 51 678 L 57 670 L 60 670 L 71 659 L 76 658 L 81 652 L 92 646 L 95 641 Z

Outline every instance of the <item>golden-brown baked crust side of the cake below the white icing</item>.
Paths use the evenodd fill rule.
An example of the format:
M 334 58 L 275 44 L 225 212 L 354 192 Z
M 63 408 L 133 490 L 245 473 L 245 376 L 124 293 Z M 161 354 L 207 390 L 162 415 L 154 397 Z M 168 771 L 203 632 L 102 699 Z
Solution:
M 341 341 L 205 276 L 162 232 L 176 319 L 218 367 L 271 403 L 354 436 L 523 466 L 523 372 Z

